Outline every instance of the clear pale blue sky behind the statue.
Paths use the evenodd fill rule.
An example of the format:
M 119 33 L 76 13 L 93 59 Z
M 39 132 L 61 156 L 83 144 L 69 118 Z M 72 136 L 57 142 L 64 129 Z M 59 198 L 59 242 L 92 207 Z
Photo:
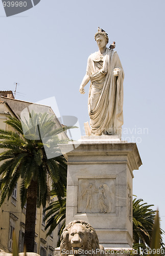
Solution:
M 116 42 L 125 71 L 123 138 L 138 142 L 143 161 L 134 170 L 133 194 L 159 208 L 165 230 L 165 1 L 41 0 L 11 17 L 0 7 L 1 90 L 14 91 L 19 82 L 17 99 L 55 96 L 61 115 L 78 117 L 82 135 L 89 84 L 84 95 L 79 87 L 88 55 L 98 50 L 98 26 Z

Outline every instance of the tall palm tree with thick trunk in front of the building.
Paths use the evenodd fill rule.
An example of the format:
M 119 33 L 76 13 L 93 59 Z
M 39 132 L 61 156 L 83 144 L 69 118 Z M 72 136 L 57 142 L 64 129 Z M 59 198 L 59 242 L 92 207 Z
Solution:
M 11 116 L 6 123 L 15 131 L 0 130 L 0 148 L 5 149 L 0 154 L 0 161 L 5 160 L 0 166 L 0 206 L 6 197 L 9 200 L 20 179 L 21 207 L 27 202 L 24 244 L 27 251 L 33 252 L 36 207 L 45 207 L 49 197 L 48 176 L 54 184 L 59 201 L 64 197 L 67 167 L 57 143 L 61 143 L 58 135 L 70 127 L 55 130 L 53 117 L 34 112 L 24 123 Z M 45 152 L 47 150 L 51 154 L 57 153 L 57 157 L 48 159 Z

